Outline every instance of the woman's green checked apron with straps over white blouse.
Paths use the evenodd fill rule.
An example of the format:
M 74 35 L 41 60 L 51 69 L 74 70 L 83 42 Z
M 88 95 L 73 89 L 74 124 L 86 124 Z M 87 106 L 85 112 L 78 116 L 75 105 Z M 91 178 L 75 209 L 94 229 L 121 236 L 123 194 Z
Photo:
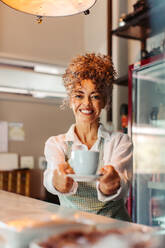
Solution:
M 72 151 L 72 141 L 67 142 L 66 161 L 69 160 Z M 104 139 L 99 143 L 99 165 L 98 170 L 103 165 Z M 60 205 L 86 211 L 89 213 L 99 214 L 119 220 L 131 221 L 123 199 L 116 201 L 102 202 L 98 200 L 96 182 L 78 182 L 78 189 L 74 195 L 60 194 Z

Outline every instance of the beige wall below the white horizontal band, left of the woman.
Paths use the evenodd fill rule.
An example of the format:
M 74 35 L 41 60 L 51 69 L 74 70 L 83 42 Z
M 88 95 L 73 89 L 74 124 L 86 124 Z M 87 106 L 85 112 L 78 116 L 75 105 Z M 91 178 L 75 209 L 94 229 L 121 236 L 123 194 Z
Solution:
M 35 168 L 38 158 L 44 155 L 44 144 L 53 135 L 64 133 L 74 122 L 69 108 L 61 110 L 57 101 L 33 99 L 0 93 L 0 120 L 22 123 L 25 133 L 23 141 L 9 140 L 8 152 L 19 156 L 33 156 Z

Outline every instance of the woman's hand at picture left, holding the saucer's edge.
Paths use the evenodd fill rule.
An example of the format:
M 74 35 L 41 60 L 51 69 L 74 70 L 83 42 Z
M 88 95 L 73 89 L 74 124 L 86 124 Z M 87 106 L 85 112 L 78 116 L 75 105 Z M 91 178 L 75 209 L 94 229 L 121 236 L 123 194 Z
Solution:
M 61 193 L 68 193 L 73 186 L 73 179 L 67 174 L 74 174 L 73 169 L 68 163 L 59 164 L 58 169 L 54 170 L 53 186 Z

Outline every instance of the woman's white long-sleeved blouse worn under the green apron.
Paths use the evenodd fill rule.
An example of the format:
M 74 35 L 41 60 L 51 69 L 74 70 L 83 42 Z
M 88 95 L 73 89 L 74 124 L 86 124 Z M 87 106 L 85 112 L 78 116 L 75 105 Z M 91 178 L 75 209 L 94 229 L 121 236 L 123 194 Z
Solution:
M 47 160 L 47 169 L 44 172 L 44 186 L 52 194 L 61 194 L 52 183 L 53 171 L 58 169 L 58 164 L 65 163 L 65 154 L 67 152 L 67 141 L 72 141 L 72 150 L 88 150 L 88 147 L 81 143 L 74 132 L 73 124 L 66 134 L 50 137 L 45 143 L 45 157 Z M 99 181 L 96 181 L 98 200 L 109 201 L 125 199 L 132 179 L 132 142 L 127 134 L 120 132 L 109 133 L 101 124 L 98 129 L 98 139 L 90 149 L 98 151 L 101 137 L 104 138 L 104 165 L 112 165 L 119 173 L 121 178 L 121 187 L 116 194 L 111 196 L 103 195 L 99 190 Z M 66 195 L 75 194 L 78 183 L 74 182 L 73 187 Z

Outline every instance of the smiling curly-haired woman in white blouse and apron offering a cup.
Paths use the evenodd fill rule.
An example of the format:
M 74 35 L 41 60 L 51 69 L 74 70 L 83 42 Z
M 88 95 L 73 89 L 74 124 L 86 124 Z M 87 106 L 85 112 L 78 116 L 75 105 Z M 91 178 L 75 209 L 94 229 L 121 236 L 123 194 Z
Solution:
M 71 61 L 63 80 L 75 124 L 47 140 L 44 185 L 65 207 L 130 221 L 124 200 L 132 177 L 132 143 L 126 134 L 106 131 L 99 121 L 114 79 L 109 56 L 86 54 Z M 77 149 L 99 151 L 103 175 L 96 182 L 78 183 L 67 176 L 74 173 L 68 160 Z

